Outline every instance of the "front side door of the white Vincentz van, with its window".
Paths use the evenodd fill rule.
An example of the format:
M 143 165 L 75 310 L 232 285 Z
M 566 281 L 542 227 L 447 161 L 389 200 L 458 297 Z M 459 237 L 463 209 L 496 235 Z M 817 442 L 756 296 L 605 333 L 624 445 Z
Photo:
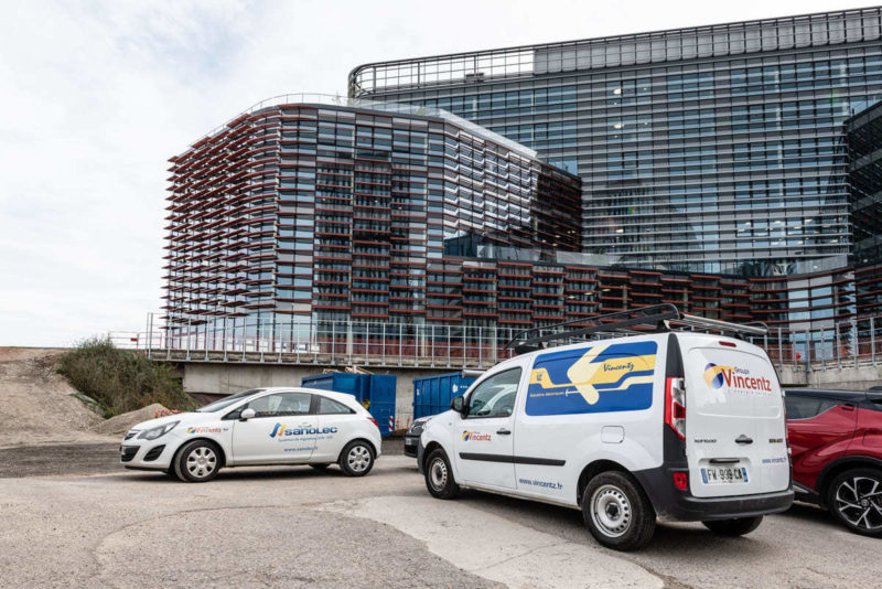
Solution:
M 453 450 L 464 483 L 515 489 L 514 408 L 523 371 L 514 367 L 477 383 L 469 414 L 454 417 Z

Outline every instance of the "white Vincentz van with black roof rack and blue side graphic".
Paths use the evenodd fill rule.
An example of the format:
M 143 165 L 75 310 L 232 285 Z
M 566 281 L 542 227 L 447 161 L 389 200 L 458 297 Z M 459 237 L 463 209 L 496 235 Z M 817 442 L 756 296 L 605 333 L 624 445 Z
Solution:
M 429 492 L 472 488 L 581 508 L 616 549 L 646 544 L 656 516 L 742 535 L 793 502 L 783 393 L 766 353 L 720 333 L 762 333 L 655 306 L 593 328 L 653 333 L 524 353 L 484 373 L 420 438 Z M 633 331 L 631 332 L 633 333 Z

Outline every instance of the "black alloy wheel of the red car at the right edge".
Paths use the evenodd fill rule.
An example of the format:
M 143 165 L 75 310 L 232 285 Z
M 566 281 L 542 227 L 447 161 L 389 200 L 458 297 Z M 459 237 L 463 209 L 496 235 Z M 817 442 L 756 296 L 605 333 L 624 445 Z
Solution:
M 851 469 L 827 490 L 827 508 L 847 528 L 864 536 L 882 536 L 882 471 Z

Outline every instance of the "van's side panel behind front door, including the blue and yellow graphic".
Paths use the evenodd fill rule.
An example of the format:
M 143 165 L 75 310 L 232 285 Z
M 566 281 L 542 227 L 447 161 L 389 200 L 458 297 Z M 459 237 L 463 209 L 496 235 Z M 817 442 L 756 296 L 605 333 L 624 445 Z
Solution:
M 517 490 L 572 503 L 581 469 L 592 459 L 658 446 L 647 427 L 658 344 L 598 342 L 536 355 L 515 436 Z M 660 460 L 660 456 L 658 457 Z M 652 465 L 652 464 L 646 464 Z

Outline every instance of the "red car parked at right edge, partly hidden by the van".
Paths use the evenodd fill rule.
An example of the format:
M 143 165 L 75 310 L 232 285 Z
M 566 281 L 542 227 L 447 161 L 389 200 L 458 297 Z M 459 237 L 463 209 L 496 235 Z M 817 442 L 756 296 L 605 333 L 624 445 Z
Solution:
M 882 387 L 786 393 L 797 501 L 826 507 L 852 532 L 882 536 Z

